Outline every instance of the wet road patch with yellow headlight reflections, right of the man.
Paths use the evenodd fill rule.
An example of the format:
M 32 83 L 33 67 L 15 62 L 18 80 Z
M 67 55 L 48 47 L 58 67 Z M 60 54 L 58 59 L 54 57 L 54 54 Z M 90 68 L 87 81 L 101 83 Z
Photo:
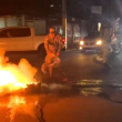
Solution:
M 80 93 L 88 95 L 108 94 L 122 96 L 122 84 L 116 82 L 105 82 L 103 80 L 81 80 L 74 84 L 74 88 L 80 90 Z M 115 98 L 115 96 L 114 96 Z

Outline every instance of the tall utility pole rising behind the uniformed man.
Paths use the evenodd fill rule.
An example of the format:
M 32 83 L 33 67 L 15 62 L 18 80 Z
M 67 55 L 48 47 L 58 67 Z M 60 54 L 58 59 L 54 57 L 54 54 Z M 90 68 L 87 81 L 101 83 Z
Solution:
M 62 27 L 65 37 L 65 49 L 68 49 L 68 39 L 67 39 L 67 0 L 62 0 Z

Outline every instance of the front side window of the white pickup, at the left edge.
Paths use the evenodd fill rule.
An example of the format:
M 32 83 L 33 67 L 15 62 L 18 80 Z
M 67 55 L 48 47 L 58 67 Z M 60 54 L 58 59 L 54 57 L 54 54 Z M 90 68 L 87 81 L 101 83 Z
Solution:
M 4 29 L 0 31 L 0 38 L 12 38 L 13 29 Z

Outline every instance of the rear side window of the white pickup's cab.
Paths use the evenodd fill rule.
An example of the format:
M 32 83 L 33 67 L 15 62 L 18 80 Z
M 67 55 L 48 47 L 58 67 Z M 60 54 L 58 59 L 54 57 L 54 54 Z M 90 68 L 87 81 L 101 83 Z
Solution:
M 16 28 L 14 29 L 14 38 L 16 37 L 30 37 L 31 31 L 30 28 Z

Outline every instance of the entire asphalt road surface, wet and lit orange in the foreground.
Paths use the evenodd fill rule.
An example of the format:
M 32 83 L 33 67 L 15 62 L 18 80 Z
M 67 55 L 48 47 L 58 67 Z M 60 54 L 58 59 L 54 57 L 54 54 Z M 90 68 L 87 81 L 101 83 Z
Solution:
M 0 121 L 122 122 L 121 57 L 110 58 L 112 69 L 103 71 L 93 53 L 63 52 L 61 68 L 68 83 L 52 83 L 38 94 L 1 96 Z M 10 61 L 18 63 L 21 58 L 40 70 L 42 60 L 37 54 L 11 55 Z

